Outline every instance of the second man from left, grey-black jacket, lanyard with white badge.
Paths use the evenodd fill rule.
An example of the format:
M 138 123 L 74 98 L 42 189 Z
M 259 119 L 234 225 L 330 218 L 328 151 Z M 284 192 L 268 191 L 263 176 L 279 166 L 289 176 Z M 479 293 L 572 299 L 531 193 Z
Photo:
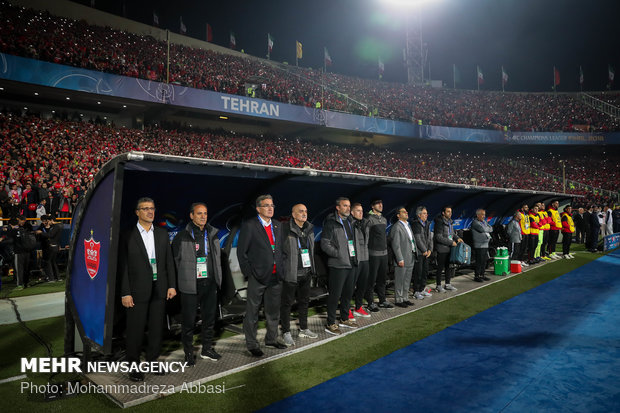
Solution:
M 212 361 L 221 358 L 213 348 L 217 290 L 222 285 L 220 240 L 217 229 L 207 224 L 207 214 L 205 204 L 192 204 L 189 213 L 191 222 L 172 241 L 178 290 L 181 293 L 181 341 L 185 361 L 190 366 L 195 364 L 193 342 L 198 305 L 202 316 L 200 357 Z

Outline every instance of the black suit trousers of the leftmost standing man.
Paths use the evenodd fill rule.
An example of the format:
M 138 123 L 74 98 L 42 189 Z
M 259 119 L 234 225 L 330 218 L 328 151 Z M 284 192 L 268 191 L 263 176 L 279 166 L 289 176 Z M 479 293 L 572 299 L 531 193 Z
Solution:
M 134 301 L 134 306 L 127 309 L 127 361 L 140 361 L 144 330 L 147 325 L 149 333 L 146 360 L 154 361 L 159 357 L 165 315 L 166 298 L 160 297 L 157 293 L 152 294 L 149 301 Z

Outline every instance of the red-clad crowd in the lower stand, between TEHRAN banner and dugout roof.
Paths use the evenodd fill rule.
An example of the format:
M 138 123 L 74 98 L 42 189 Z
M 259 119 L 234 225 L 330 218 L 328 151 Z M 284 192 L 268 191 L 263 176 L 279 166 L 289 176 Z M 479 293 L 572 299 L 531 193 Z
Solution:
M 102 165 L 132 150 L 486 187 L 562 191 L 560 180 L 537 176 L 535 171 L 506 173 L 514 168 L 504 157 L 489 154 L 393 151 L 223 131 L 117 129 L 9 112 L 0 114 L 0 138 L 0 207 L 5 217 L 22 213 L 35 217 L 43 199 L 46 213 L 70 216 L 77 199 Z M 544 162 L 537 162 L 533 160 L 532 166 L 544 168 Z M 567 160 L 571 179 L 594 185 L 588 171 L 597 171 L 598 176 L 600 171 L 607 171 L 601 178 L 606 182 L 601 184 L 614 190 L 618 189 L 619 166 L 620 159 L 612 156 L 602 160 L 575 156 Z M 587 195 L 599 204 L 611 202 L 603 195 L 593 195 L 591 190 L 568 191 Z M 580 203 L 586 202 L 590 201 Z

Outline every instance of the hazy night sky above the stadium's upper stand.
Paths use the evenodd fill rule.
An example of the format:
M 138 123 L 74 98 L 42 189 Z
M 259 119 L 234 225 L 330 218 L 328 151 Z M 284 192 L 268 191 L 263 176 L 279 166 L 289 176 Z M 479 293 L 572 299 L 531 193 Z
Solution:
M 78 1 L 90 4 L 90 0 Z M 323 47 L 333 64 L 329 71 L 377 78 L 380 56 L 384 80 L 406 81 L 402 50 L 405 20 L 422 16 L 424 41 L 433 79 L 453 85 L 452 65 L 463 89 L 476 88 L 476 65 L 484 73 L 484 90 L 501 90 L 501 66 L 507 91 L 550 91 L 553 66 L 560 72 L 558 91 L 605 90 L 608 65 L 620 71 L 619 0 L 436 0 L 420 11 L 395 11 L 380 0 L 160 1 L 125 0 L 126 16 L 147 24 L 153 10 L 160 27 L 228 47 L 235 33 L 237 50 L 265 57 L 267 33 L 274 39 L 271 58 L 295 64 L 295 40 L 303 44 L 300 66 L 323 66 Z M 95 7 L 123 14 L 122 0 L 95 0 Z M 619 72 L 620 74 L 620 72 Z M 613 89 L 618 89 L 616 79 Z

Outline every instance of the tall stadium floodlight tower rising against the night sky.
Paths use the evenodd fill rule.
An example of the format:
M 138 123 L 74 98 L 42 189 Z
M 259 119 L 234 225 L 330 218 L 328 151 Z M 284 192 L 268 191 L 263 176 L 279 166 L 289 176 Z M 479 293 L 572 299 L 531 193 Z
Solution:
M 438 0 L 381 0 L 401 15 L 405 15 L 405 51 L 404 60 L 407 67 L 407 82 L 424 84 L 424 67 L 426 66 L 426 48 L 422 40 L 422 9 L 426 3 Z M 430 80 L 430 79 L 429 79 Z

